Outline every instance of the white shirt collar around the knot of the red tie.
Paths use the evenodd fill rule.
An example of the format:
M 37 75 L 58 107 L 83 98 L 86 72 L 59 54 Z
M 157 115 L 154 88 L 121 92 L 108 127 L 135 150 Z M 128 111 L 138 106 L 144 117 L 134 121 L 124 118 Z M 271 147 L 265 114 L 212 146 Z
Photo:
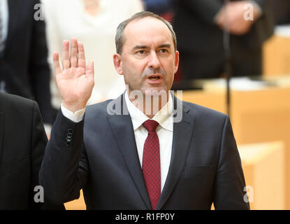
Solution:
M 159 123 L 161 127 L 173 132 L 173 99 L 169 94 L 168 102 L 158 111 L 152 120 Z M 133 123 L 133 130 L 137 130 L 148 118 L 142 111 L 140 111 L 129 99 L 128 91 L 125 92 L 125 102 Z M 158 127 L 157 127 L 158 129 Z

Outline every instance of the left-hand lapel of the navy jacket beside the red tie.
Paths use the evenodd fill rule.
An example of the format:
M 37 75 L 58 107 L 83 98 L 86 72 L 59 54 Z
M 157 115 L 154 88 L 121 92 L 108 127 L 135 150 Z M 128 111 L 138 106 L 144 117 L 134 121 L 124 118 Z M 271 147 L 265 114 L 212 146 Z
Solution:
M 122 105 L 122 115 L 107 115 L 107 120 L 147 209 L 152 209 L 140 167 L 133 124 L 123 96 L 124 94 L 114 101 L 116 104 Z

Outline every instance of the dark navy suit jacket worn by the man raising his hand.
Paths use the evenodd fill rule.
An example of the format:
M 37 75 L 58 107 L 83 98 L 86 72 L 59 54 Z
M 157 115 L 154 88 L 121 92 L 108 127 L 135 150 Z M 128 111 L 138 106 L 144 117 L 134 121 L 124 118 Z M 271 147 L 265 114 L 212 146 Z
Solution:
M 80 123 L 58 114 L 41 165 L 45 200 L 74 200 L 83 188 L 87 209 L 152 209 L 131 117 L 109 115 L 109 102 L 88 106 Z M 212 202 L 216 209 L 249 209 L 244 187 L 229 117 L 183 102 L 157 209 L 210 209 Z

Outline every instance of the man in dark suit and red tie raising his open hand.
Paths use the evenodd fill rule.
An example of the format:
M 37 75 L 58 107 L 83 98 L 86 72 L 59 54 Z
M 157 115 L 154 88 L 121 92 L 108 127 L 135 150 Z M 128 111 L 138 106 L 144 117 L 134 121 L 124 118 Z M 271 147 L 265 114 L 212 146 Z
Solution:
M 82 188 L 87 209 L 249 209 L 229 117 L 168 93 L 179 62 L 171 25 L 137 13 L 117 28 L 116 48 L 127 90 L 87 108 L 94 64 L 82 43 L 72 38 L 69 55 L 64 41 L 63 70 L 54 53 L 63 102 L 41 165 L 45 200 Z

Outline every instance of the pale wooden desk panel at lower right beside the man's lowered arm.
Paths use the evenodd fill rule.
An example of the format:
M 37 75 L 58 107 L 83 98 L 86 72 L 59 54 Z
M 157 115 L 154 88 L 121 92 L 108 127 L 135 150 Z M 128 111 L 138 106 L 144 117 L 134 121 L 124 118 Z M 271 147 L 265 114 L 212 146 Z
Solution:
M 238 146 L 251 210 L 285 209 L 282 141 Z

